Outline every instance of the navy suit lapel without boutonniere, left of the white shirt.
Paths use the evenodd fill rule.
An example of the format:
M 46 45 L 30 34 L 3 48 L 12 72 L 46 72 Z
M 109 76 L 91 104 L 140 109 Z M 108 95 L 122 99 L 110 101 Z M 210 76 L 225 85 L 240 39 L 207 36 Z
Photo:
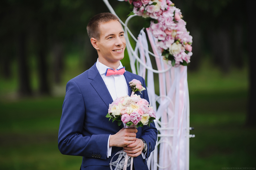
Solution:
M 101 99 L 104 101 L 107 107 L 109 107 L 109 104 L 113 102 L 113 99 L 109 93 L 108 88 L 106 87 L 97 67 L 96 64 L 94 64 L 89 70 L 88 70 L 88 78 L 90 78 L 91 85 L 96 90 L 96 92 L 99 94 Z

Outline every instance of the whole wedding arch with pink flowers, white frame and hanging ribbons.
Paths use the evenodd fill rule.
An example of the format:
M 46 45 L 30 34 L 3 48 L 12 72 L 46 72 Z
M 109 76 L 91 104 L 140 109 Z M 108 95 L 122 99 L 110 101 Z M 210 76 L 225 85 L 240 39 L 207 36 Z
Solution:
M 120 22 L 125 31 L 131 70 L 146 80 L 148 96 L 157 117 L 155 124 L 158 141 L 147 160 L 148 167 L 151 170 L 189 169 L 189 138 L 195 135 L 189 133 L 191 128 L 186 65 L 192 55 L 192 37 L 186 30 L 180 10 L 171 1 L 128 1 L 134 7 L 135 14 L 130 15 L 125 22 Z M 103 2 L 116 15 L 108 0 Z M 142 28 L 135 38 L 127 25 L 137 15 L 152 18 L 152 21 L 151 26 Z M 134 49 L 128 35 L 136 42 Z M 152 52 L 149 51 L 148 41 Z M 156 63 L 157 69 L 153 69 L 152 62 Z M 159 95 L 155 93 L 157 88 Z

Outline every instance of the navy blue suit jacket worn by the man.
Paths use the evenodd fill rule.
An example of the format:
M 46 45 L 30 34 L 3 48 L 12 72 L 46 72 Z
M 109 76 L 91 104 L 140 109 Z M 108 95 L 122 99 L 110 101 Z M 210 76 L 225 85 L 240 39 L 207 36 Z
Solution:
M 127 85 L 132 79 L 137 79 L 145 86 L 145 80 L 136 74 L 126 71 L 124 73 Z M 131 88 L 129 95 L 131 94 Z M 141 98 L 148 99 L 147 90 L 142 94 L 136 92 Z M 112 147 L 111 157 L 107 158 L 107 144 L 110 134 L 117 133 L 122 127 L 117 121 L 106 118 L 112 97 L 94 64 L 89 70 L 71 79 L 66 86 L 66 95 L 62 106 L 60 119 L 58 148 L 62 154 L 83 156 L 81 169 L 110 169 L 109 163 L 120 147 Z M 136 138 L 143 138 L 147 145 L 148 157 L 154 150 L 157 140 L 155 124 L 150 127 L 138 127 Z M 98 156 L 96 156 L 98 155 Z M 100 155 L 100 156 L 99 156 Z M 100 166 L 98 166 L 100 165 Z M 141 155 L 134 157 L 135 169 L 148 169 L 146 160 Z

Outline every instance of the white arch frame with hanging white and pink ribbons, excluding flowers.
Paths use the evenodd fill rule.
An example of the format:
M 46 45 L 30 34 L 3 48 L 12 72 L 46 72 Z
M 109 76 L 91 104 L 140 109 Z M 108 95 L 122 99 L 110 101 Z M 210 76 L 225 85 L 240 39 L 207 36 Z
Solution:
M 103 0 L 103 2 L 110 12 L 116 15 L 108 0 Z M 156 112 L 157 120 L 155 124 L 160 138 L 155 150 L 147 160 L 148 167 L 151 170 L 189 169 L 189 138 L 194 137 L 194 135 L 189 134 L 187 66 L 172 67 L 163 62 L 161 54 L 155 48 L 154 37 L 148 29 L 146 29 L 146 32 L 153 53 L 148 50 L 148 40 L 144 28 L 136 39 L 127 27 L 128 22 L 134 16 L 136 14 L 129 16 L 125 22 L 120 19 L 120 22 L 124 26 L 126 49 L 132 72 L 143 78 L 146 77 L 147 72 L 147 91 L 151 106 L 154 107 Z M 129 41 L 128 33 L 136 41 L 134 50 Z M 157 70 L 153 69 L 149 55 L 155 57 Z M 159 95 L 155 94 L 153 73 L 159 74 Z M 156 103 L 159 104 L 157 110 Z

